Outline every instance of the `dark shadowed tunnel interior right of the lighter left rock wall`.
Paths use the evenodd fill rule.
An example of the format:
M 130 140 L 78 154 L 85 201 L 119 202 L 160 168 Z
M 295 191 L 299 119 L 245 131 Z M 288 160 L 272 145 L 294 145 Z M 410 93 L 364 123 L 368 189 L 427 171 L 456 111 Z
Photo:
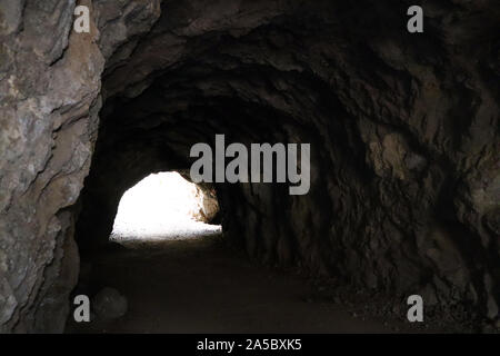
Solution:
M 133 3 L 137 18 L 126 16 L 121 24 L 102 19 L 110 21 L 109 33 L 124 27 L 134 34 L 116 42 L 102 31 L 109 57 L 99 130 L 76 224 L 82 256 L 77 290 L 99 305 L 106 288 L 116 288 L 110 299 L 121 294 L 129 312 L 118 310 L 114 322 L 98 315 L 98 324 L 112 325 L 92 327 L 362 332 L 387 330 L 383 323 L 393 330 L 403 320 L 413 329 L 449 330 L 464 323 L 476 328 L 477 310 L 492 326 L 498 258 L 484 246 L 497 246 L 497 210 L 486 197 L 494 196 L 500 176 L 494 134 L 484 128 L 493 123 L 496 106 L 481 97 L 489 89 L 479 75 L 476 89 L 438 75 L 467 62 L 429 39 L 442 40 L 439 31 L 409 37 L 398 20 L 404 4 L 389 11 L 369 1 L 293 2 L 286 9 L 266 1 L 253 9 L 251 1 L 228 14 L 223 6 L 206 12 L 197 1 L 186 8 Z M 111 4 L 101 10 L 112 13 Z M 369 26 L 380 29 L 377 38 Z M 223 228 L 219 243 L 207 239 L 210 230 L 192 241 L 111 248 L 126 191 L 151 174 L 177 171 L 190 180 L 191 149 L 202 142 L 216 151 L 220 135 L 226 147 L 237 144 L 243 151 L 263 142 L 310 145 L 307 194 L 290 195 L 287 184 L 263 179 L 198 184 L 220 205 L 212 221 Z M 466 175 L 476 161 L 482 168 Z M 461 188 L 468 185 L 477 187 L 467 188 L 476 191 L 470 197 Z M 158 198 L 150 197 L 150 205 Z M 482 211 L 478 218 L 472 206 Z M 162 216 L 158 209 L 151 216 L 157 214 Z M 310 281 L 294 281 L 297 291 L 287 286 L 292 276 L 269 284 L 272 273 L 259 264 L 301 271 Z M 318 299 L 308 296 L 317 294 L 310 283 L 324 279 L 327 295 L 304 303 Z M 411 295 L 424 299 L 421 325 L 407 320 Z M 318 313 L 321 300 L 337 312 Z M 107 308 L 113 307 L 104 315 Z

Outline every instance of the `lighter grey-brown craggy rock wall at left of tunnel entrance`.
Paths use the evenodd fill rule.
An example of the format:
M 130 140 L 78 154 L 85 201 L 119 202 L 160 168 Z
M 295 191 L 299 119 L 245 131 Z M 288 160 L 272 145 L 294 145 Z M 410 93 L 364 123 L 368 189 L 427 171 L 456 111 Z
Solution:
M 63 329 L 79 265 L 70 207 L 90 166 L 106 57 L 153 22 L 153 3 L 81 1 L 91 32 L 77 33 L 74 0 L 0 2 L 0 332 Z M 114 21 L 126 4 L 147 21 Z

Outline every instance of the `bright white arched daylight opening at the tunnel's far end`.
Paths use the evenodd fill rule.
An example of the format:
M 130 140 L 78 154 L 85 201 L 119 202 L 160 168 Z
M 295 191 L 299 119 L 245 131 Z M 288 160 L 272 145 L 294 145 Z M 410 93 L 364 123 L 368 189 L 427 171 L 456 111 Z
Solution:
M 118 207 L 111 240 L 184 239 L 219 234 L 198 221 L 203 192 L 178 172 L 152 174 L 127 190 Z

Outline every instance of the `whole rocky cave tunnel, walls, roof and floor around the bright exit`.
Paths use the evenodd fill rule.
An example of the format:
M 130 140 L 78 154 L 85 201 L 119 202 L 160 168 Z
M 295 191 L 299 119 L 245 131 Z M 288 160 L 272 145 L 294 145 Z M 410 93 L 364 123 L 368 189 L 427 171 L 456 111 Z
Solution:
M 0 2 L 0 332 L 498 333 L 500 7 L 411 4 Z M 307 194 L 196 182 L 222 234 L 110 240 L 217 135 L 309 144 Z

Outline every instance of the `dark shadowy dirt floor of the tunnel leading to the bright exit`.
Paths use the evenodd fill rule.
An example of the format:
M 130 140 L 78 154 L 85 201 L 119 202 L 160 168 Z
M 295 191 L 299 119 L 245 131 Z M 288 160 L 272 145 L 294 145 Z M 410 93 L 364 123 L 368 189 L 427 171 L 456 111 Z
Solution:
M 80 324 L 70 315 L 67 333 L 404 330 L 403 323 L 354 317 L 350 307 L 317 300 L 303 276 L 256 265 L 220 236 L 131 245 L 83 260 L 90 264 L 91 290 L 118 289 L 128 312 L 119 319 Z

